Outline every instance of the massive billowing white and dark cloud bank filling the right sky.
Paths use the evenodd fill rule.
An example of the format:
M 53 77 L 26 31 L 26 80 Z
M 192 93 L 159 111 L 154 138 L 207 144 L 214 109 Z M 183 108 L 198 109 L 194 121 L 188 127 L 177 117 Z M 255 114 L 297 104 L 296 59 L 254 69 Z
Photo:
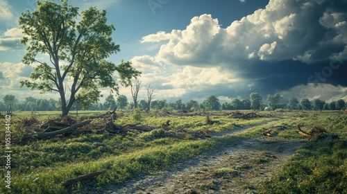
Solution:
M 335 95 L 341 94 L 340 87 L 347 87 L 346 7 L 346 1 L 271 0 L 226 28 L 204 14 L 192 18 L 183 30 L 142 37 L 142 43 L 162 45 L 155 56 L 134 59 L 151 58 L 149 69 L 160 64 L 162 72 L 171 72 L 153 76 L 153 71 L 151 78 L 191 97 L 246 97 L 251 91 L 285 94 L 300 86 L 306 93 L 293 94 L 298 98 L 312 98 L 312 88 L 328 87 L 337 92 L 321 95 L 329 100 L 341 96 Z M 143 78 L 148 78 L 146 71 Z

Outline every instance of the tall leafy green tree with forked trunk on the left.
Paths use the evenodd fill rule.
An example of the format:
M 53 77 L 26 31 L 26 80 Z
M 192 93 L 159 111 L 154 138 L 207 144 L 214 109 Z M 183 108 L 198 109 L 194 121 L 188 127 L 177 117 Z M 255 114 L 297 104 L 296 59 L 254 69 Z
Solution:
M 57 91 L 65 116 L 76 100 L 85 107 L 99 100 L 100 87 L 118 92 L 117 80 L 112 78 L 115 71 L 121 85 L 130 85 L 130 79 L 140 74 L 131 62 L 121 61 L 117 66 L 105 60 L 120 51 L 111 37 L 115 27 L 106 21 L 106 11 L 96 7 L 80 15 L 67 0 L 37 1 L 37 9 L 19 17 L 24 31 L 21 43 L 26 44 L 22 62 L 34 65 L 31 79 L 22 81 L 21 86 L 42 93 Z M 42 55 L 38 54 L 49 59 L 40 60 Z

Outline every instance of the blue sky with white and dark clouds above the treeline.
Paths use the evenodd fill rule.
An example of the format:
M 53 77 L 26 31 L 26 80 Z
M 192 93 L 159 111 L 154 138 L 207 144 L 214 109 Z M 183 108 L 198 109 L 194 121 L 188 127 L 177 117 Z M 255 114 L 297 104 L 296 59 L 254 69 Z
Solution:
M 107 10 L 112 39 L 121 51 L 108 60 L 130 60 L 142 71 L 142 91 L 167 101 L 210 95 L 221 102 L 279 92 L 287 100 L 347 101 L 347 1 L 325 0 L 70 0 L 85 10 Z M 18 17 L 35 0 L 0 0 L 0 98 L 56 98 L 20 88 L 32 67 Z M 117 73 L 115 73 L 115 77 Z M 108 96 L 109 89 L 101 89 Z M 119 94 L 128 96 L 130 88 Z M 102 100 L 102 99 L 101 99 Z

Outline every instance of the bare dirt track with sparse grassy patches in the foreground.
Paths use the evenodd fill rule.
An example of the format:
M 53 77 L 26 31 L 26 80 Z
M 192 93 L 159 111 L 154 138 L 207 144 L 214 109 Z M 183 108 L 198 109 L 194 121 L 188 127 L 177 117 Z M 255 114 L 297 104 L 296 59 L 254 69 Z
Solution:
M 248 128 L 239 128 L 228 135 Z M 232 143 L 171 169 L 111 185 L 101 193 L 256 193 L 303 142 L 276 141 L 269 136 Z

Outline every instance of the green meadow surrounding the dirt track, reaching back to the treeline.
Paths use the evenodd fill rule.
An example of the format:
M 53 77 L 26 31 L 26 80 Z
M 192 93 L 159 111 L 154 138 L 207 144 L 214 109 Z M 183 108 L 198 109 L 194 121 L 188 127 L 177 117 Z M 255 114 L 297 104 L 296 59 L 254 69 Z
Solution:
M 242 114 L 250 111 L 240 111 Z M 94 116 L 105 112 L 71 113 L 71 118 Z M 135 123 L 133 112 L 117 111 L 114 123 Z M 123 186 L 130 180 L 156 175 L 168 168 L 179 168 L 192 159 L 209 155 L 230 145 L 245 141 L 264 141 L 257 148 L 269 147 L 269 151 L 249 150 L 247 157 L 230 157 L 230 166 L 206 168 L 201 179 L 206 183 L 192 183 L 191 193 L 208 193 L 226 189 L 230 182 L 247 179 L 257 173 L 258 164 L 271 163 L 276 155 L 271 143 L 303 143 L 293 155 L 271 173 L 269 179 L 242 182 L 242 191 L 253 193 L 344 193 L 347 188 L 347 114 L 344 112 L 256 112 L 260 117 L 235 118 L 235 112 L 208 112 L 219 123 L 205 122 L 203 112 L 142 112 L 138 125 L 160 126 L 167 120 L 169 127 L 157 127 L 150 132 L 129 130 L 119 134 L 89 132 L 62 134 L 48 139 L 21 138 L 28 133 L 22 122 L 35 118 L 44 122 L 58 117 L 58 112 L 13 112 L 11 116 L 10 188 L 6 188 L 6 158 L 1 159 L 1 193 L 112 193 L 112 186 Z M 1 120 L 1 143 L 5 145 L 6 120 Z M 92 121 L 94 123 L 99 120 Z M 326 127 L 323 138 L 308 140 L 298 134 L 297 125 L 309 131 L 312 126 Z M 281 127 L 281 129 L 279 128 Z M 264 130 L 273 129 L 271 136 Z M 240 131 L 233 134 L 232 132 Z M 270 144 L 269 144 L 270 142 Z M 270 146 L 271 145 L 271 146 Z M 274 144 L 273 144 L 274 145 Z M 276 144 L 277 145 L 277 144 Z M 267 147 L 266 147 L 267 148 Z M 6 155 L 1 149 L 1 155 Z M 255 153 L 256 152 L 256 153 Z M 248 152 L 244 152 L 248 153 Z M 268 157 L 268 155 L 273 157 Z M 247 159 L 247 161 L 245 160 Z M 235 165 L 237 164 L 237 165 Z M 194 168 L 194 166 L 192 166 Z M 71 186 L 62 186 L 67 179 L 106 170 L 106 173 Z M 259 170 L 259 169 L 258 169 Z M 239 174 L 242 173 L 242 176 Z M 250 177 L 248 177 L 250 176 Z M 228 180 L 228 182 L 226 182 Z M 212 191 L 212 190 L 211 190 Z

